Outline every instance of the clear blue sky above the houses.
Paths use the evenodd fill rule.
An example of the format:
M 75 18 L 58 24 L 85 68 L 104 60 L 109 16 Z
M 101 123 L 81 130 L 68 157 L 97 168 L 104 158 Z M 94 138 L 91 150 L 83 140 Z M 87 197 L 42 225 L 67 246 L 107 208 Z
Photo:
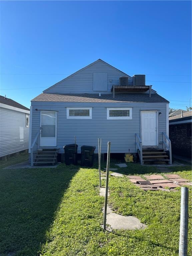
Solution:
M 171 107 L 189 106 L 191 1 L 0 5 L 1 95 L 30 107 L 44 89 L 100 58 L 131 76 L 146 74 Z

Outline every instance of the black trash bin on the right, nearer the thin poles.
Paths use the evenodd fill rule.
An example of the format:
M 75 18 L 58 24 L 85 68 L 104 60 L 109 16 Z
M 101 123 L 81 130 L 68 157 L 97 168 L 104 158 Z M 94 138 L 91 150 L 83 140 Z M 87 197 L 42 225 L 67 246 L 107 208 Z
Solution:
M 94 146 L 81 146 L 81 166 L 93 166 Z

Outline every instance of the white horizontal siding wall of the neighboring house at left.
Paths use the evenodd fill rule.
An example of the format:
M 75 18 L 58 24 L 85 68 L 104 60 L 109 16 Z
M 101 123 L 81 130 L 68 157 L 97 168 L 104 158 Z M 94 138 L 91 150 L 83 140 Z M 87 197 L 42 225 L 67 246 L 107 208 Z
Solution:
M 0 157 L 29 147 L 29 128 L 25 113 L 0 108 Z

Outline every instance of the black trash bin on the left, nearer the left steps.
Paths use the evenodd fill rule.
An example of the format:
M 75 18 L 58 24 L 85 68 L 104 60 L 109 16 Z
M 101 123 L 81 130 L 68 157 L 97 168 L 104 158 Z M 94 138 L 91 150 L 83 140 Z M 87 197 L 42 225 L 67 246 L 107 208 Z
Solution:
M 65 164 L 77 164 L 77 144 L 68 144 L 63 147 L 65 151 Z

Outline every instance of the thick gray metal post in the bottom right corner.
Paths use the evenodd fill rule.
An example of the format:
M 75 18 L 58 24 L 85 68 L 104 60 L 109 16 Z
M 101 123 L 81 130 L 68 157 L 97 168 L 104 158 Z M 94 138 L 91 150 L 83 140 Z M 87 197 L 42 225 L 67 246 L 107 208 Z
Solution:
M 179 235 L 179 256 L 187 256 L 189 190 L 181 188 L 181 216 Z

